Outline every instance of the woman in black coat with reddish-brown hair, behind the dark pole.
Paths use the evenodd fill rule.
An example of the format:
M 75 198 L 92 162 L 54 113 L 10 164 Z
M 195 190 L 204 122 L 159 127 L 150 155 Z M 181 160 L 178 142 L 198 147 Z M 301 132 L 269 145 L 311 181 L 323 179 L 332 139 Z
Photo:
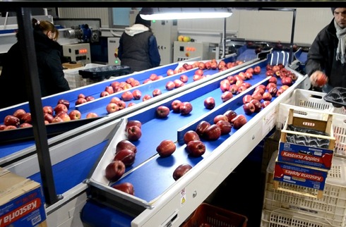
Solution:
M 55 40 L 59 30 L 49 21 L 32 19 L 41 96 L 70 90 L 61 64 L 62 48 Z M 28 86 L 18 42 L 4 56 L 0 75 L 0 109 L 28 102 Z

